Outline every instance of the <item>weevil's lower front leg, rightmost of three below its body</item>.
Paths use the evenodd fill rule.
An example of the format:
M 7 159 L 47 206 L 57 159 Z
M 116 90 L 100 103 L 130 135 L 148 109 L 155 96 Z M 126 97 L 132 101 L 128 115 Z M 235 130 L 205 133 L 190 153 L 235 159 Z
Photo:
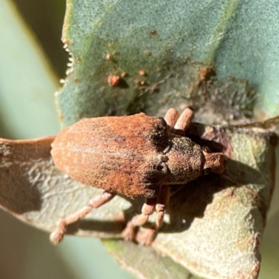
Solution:
M 163 185 L 160 194 L 157 197 L 156 202 L 156 224 L 153 226 L 153 228 L 146 229 L 144 234 L 142 235 L 140 239 L 140 243 L 143 246 L 150 246 L 153 240 L 155 239 L 155 236 L 158 232 L 158 229 L 162 227 L 165 211 L 167 209 L 167 204 L 169 204 L 169 195 L 170 195 L 170 189 L 168 185 Z

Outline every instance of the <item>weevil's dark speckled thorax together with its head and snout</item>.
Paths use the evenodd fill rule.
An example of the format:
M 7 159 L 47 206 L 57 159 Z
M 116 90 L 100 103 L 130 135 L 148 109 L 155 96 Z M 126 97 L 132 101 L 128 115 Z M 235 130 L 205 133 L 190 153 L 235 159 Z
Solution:
M 223 153 L 210 153 L 188 137 L 170 135 L 170 146 L 160 160 L 165 163 L 164 180 L 169 184 L 182 184 L 210 172 L 225 170 Z

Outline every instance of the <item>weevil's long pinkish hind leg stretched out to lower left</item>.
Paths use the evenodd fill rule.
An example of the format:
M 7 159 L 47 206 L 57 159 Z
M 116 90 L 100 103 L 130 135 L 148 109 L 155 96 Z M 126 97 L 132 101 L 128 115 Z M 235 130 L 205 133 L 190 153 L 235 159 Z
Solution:
M 110 202 L 110 200 L 115 196 L 115 193 L 109 193 L 104 191 L 102 194 L 93 197 L 87 206 L 84 206 L 83 209 L 80 209 L 72 215 L 60 219 L 56 227 L 56 230 L 50 234 L 50 241 L 57 244 L 62 241 L 64 234 L 66 233 L 66 228 L 68 225 L 77 222 L 78 220 L 84 218 L 92 209 L 98 209 L 98 207 Z

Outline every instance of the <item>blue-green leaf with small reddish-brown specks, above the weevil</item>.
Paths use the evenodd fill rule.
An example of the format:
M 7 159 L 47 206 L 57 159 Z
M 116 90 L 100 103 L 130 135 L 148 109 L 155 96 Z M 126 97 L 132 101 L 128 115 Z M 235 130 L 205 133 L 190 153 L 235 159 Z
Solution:
M 274 116 L 279 104 L 276 5 L 277 1 L 68 0 L 63 42 L 73 63 L 57 96 L 61 123 L 135 112 L 162 115 L 169 107 L 189 105 L 198 112 L 203 98 L 214 104 L 206 92 L 193 100 L 206 67 L 215 69 L 224 86 L 229 77 L 248 80 L 258 94 L 256 114 Z M 141 70 L 146 75 L 140 75 Z M 118 86 L 107 82 L 111 75 L 121 78 Z M 237 102 L 234 91 L 225 90 L 221 99 L 253 103 L 248 95 L 244 91 Z M 226 109 L 225 102 L 224 114 Z M 216 123 L 213 113 L 214 108 L 210 116 L 199 118 Z

